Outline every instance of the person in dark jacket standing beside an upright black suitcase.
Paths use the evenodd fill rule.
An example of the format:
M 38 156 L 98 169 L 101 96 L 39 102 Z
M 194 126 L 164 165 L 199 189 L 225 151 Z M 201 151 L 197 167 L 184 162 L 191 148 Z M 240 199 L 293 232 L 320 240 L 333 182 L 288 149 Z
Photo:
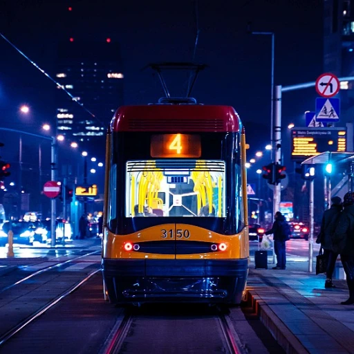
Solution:
M 290 236 L 290 226 L 281 212 L 276 212 L 272 228 L 265 232 L 273 234 L 274 252 L 277 255 L 277 265 L 272 269 L 286 269 L 286 246 Z

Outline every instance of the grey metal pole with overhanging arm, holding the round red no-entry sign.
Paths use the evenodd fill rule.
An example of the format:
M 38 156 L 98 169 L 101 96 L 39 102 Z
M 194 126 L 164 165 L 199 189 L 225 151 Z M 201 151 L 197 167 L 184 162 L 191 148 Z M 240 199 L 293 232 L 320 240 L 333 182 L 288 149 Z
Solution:
M 41 138 L 45 140 L 50 140 L 50 179 L 57 180 L 57 140 L 55 136 L 41 136 L 39 134 L 28 133 L 27 131 L 20 131 L 17 129 L 9 128 L 0 128 L 0 131 L 11 131 L 12 133 L 20 133 L 21 135 L 26 136 L 35 136 L 36 138 Z M 21 140 L 20 140 L 21 141 Z M 20 147 L 22 147 L 20 145 Z M 21 189 L 21 185 L 19 185 Z M 55 209 L 55 198 L 52 198 L 50 201 L 50 234 L 51 234 L 51 245 L 55 246 L 55 218 L 56 218 L 56 209 Z

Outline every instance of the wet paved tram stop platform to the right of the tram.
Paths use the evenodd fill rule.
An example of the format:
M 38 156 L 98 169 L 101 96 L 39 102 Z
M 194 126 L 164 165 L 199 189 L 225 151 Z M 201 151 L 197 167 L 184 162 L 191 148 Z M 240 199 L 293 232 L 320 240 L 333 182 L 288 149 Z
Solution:
M 286 270 L 254 269 L 250 263 L 245 307 L 257 315 L 286 353 L 354 353 L 354 305 L 346 281 L 325 289 L 324 274 L 308 262 L 287 261 Z M 315 270 L 315 263 L 314 263 Z

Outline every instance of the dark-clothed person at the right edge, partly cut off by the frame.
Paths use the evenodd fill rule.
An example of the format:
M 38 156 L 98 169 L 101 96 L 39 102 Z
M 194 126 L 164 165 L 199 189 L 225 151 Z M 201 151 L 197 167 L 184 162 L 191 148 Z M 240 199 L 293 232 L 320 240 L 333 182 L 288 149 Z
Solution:
M 342 301 L 342 305 L 354 304 L 354 192 L 348 192 L 343 198 L 343 212 L 339 215 L 335 234 L 333 236 L 333 250 L 340 254 L 340 260 L 346 273 L 349 299 Z

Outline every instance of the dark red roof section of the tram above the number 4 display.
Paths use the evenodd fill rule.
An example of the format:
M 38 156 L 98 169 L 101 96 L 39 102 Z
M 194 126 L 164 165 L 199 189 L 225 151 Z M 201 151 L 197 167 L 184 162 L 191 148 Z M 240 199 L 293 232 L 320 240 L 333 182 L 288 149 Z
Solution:
M 239 132 L 241 127 L 232 106 L 201 104 L 122 106 L 111 120 L 111 131 Z

